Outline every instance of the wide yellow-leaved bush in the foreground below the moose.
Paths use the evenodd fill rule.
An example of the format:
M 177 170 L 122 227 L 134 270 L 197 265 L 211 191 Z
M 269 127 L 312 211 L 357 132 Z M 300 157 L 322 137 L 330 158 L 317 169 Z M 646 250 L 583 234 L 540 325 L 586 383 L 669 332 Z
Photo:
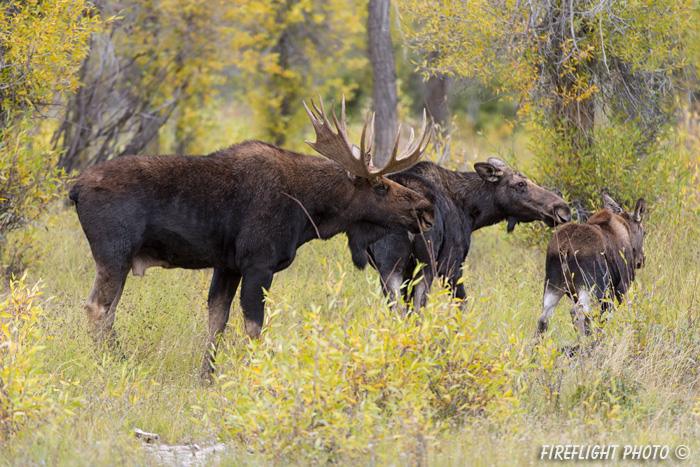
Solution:
M 261 343 L 224 357 L 235 370 L 193 407 L 196 420 L 270 456 L 328 461 L 388 443 L 420 458 L 441 427 L 516 408 L 525 357 L 514 338 L 480 336 L 472 314 L 442 302 L 339 323 L 343 311 L 324 319 L 312 307 L 286 340 L 270 337 L 289 335 L 273 312 Z

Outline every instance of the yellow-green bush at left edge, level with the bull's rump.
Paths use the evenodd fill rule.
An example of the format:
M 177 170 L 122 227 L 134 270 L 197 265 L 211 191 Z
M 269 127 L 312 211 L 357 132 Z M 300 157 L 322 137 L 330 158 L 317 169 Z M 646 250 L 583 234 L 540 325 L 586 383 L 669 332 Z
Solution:
M 19 275 L 33 260 L 39 219 L 58 195 L 55 154 L 33 138 L 29 118 L 0 129 L 0 275 Z

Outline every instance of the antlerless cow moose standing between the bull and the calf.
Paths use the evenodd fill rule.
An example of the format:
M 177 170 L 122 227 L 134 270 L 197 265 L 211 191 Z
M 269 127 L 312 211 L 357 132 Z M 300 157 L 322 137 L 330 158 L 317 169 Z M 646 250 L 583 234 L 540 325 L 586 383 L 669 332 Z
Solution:
M 551 191 L 535 185 L 502 160 L 491 157 L 474 164 L 475 172 L 458 172 L 432 162 L 420 162 L 389 178 L 426 196 L 435 208 L 435 223 L 430 232 L 415 235 L 395 228 L 372 243 L 356 265 L 368 261 L 381 276 L 385 295 L 399 297 L 401 285 L 410 279 L 417 262 L 422 280 L 403 295 L 415 308 L 426 303 L 426 293 L 437 275 L 446 278 L 454 296 L 466 298 L 462 263 L 469 253 L 471 234 L 503 220 L 508 232 L 519 222 L 544 221 L 550 227 L 571 220 L 566 202 Z M 410 295 L 412 296 L 409 296 Z

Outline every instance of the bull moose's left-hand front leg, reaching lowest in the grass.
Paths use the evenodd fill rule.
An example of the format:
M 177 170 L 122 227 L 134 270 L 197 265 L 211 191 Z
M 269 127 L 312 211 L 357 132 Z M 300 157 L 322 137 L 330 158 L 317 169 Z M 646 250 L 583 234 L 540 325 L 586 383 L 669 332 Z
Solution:
M 209 287 L 209 338 L 207 339 L 206 350 L 202 369 L 199 372 L 201 379 L 209 379 L 214 372 L 214 359 L 216 358 L 216 347 L 218 339 L 226 329 L 231 302 L 236 295 L 238 283 L 241 276 L 226 269 L 214 269 L 214 277 Z

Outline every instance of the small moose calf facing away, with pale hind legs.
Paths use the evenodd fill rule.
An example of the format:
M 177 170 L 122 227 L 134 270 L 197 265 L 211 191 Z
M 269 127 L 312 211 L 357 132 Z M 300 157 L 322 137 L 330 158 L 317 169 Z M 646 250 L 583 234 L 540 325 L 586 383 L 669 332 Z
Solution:
M 547 331 L 549 319 L 559 300 L 567 295 L 575 305 L 571 319 L 581 336 L 590 335 L 591 295 L 603 310 L 613 296 L 621 301 L 634 280 L 635 270 L 644 266 L 644 227 L 647 210 L 643 198 L 633 212 L 623 211 L 603 194 L 603 209 L 585 224 L 559 228 L 547 246 L 542 314 L 535 336 Z

